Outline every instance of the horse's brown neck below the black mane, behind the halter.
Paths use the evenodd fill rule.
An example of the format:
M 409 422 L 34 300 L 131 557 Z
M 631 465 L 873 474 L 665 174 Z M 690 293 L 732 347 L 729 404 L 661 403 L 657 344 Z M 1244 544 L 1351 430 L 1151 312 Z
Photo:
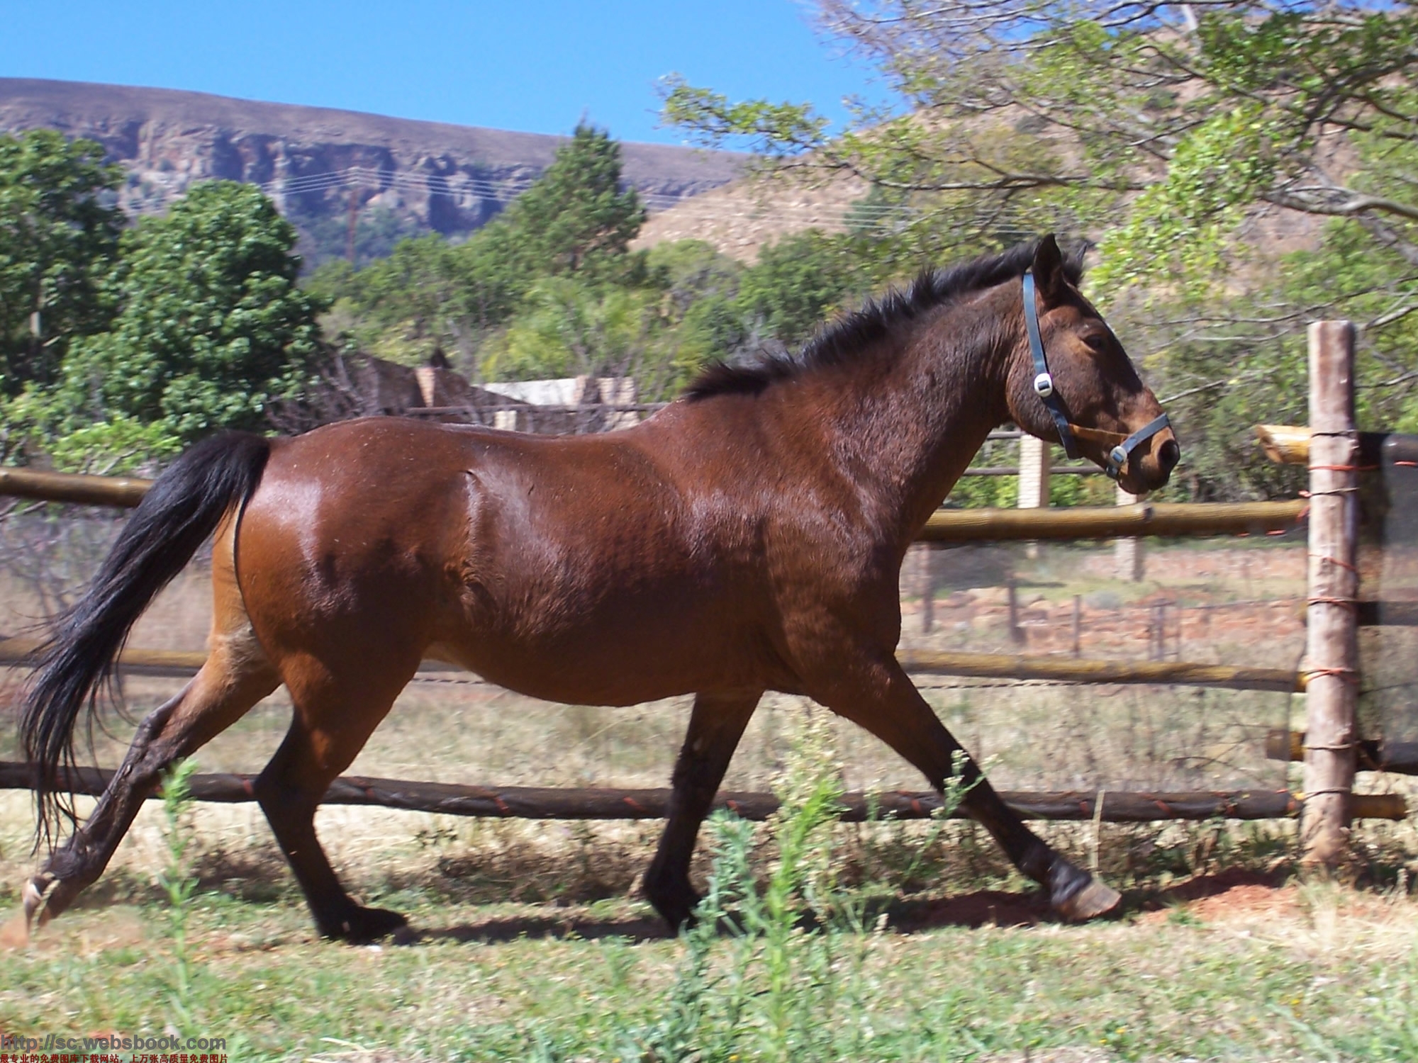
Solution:
M 902 549 L 1005 420 L 1012 346 L 994 323 L 940 319 L 915 332 L 896 351 L 864 353 L 872 378 L 856 394 L 849 383 L 841 388 L 828 429 L 837 463 L 858 485 L 858 497 L 871 500 L 869 519 Z

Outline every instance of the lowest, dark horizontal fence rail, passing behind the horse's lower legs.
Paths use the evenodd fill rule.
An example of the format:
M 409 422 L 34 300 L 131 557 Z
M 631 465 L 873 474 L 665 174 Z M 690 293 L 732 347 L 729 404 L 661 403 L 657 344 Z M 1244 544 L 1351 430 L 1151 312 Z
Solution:
M 64 782 L 75 794 L 104 792 L 113 772 L 78 768 Z M 197 801 L 242 804 L 255 801 L 255 775 L 211 774 L 189 780 Z M 0 789 L 31 789 L 34 770 L 27 764 L 0 761 Z M 464 787 L 452 782 L 408 782 L 404 780 L 349 775 L 335 780 L 322 804 L 377 805 L 408 812 L 491 816 L 505 819 L 664 819 L 669 789 L 562 789 L 547 787 Z M 155 795 L 159 797 L 159 795 Z M 1092 791 L 1029 792 L 1001 791 L 1000 797 L 1024 819 L 1150 823 L 1164 819 L 1283 819 L 1300 809 L 1300 798 L 1288 791 L 1235 792 L 1124 792 Z M 1408 806 L 1400 794 L 1356 794 L 1356 819 L 1404 819 Z M 845 822 L 869 819 L 926 819 L 940 806 L 932 792 L 885 791 L 845 794 L 841 815 Z M 727 808 L 743 819 L 766 819 L 778 808 L 771 794 L 720 792 L 715 808 Z M 959 809 L 953 818 L 963 819 Z

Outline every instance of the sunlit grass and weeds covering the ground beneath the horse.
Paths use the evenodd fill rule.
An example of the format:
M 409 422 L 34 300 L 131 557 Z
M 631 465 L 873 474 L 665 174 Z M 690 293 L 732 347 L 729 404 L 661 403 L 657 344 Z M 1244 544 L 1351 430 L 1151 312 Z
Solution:
M 281 876 L 265 894 L 210 873 L 177 887 L 206 857 L 184 848 L 174 798 L 157 884 L 130 867 L 6 957 L 0 1029 L 176 1030 L 227 1037 L 231 1060 L 352 1063 L 1418 1057 L 1418 903 L 1394 838 L 1377 884 L 1272 889 L 1255 883 L 1289 867 L 1275 828 L 1105 825 L 1099 863 L 1129 889 L 1120 920 L 912 924 L 903 911 L 954 903 L 943 887 L 1024 887 L 968 826 L 832 825 L 839 765 L 813 719 L 778 784 L 784 814 L 712 825 L 705 918 L 679 940 L 648 935 L 648 910 L 624 892 L 586 899 L 576 876 L 603 876 L 587 836 L 562 855 L 556 903 L 366 877 L 364 899 L 408 911 L 424 937 L 322 943 Z M 1086 853 L 1092 825 L 1056 833 Z M 423 845 L 464 842 L 434 829 Z M 1241 886 L 1194 899 L 1218 867 L 1245 870 Z

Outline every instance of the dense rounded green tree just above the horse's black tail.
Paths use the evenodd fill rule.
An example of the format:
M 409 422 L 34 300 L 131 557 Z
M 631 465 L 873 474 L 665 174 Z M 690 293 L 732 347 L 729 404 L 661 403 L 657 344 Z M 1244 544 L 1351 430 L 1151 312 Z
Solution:
M 323 303 L 296 286 L 295 230 L 250 184 L 194 186 L 123 235 L 112 327 L 77 342 L 55 397 L 57 455 L 135 439 L 170 451 L 261 428 L 308 376 Z

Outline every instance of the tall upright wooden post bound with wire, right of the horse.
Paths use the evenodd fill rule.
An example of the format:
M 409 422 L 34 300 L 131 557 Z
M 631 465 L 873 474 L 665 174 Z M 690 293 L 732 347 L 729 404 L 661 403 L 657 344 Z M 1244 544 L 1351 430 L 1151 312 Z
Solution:
M 1354 427 L 1354 326 L 1310 325 L 1310 543 L 1305 648 L 1306 863 L 1350 856 L 1358 703 L 1358 432 Z

